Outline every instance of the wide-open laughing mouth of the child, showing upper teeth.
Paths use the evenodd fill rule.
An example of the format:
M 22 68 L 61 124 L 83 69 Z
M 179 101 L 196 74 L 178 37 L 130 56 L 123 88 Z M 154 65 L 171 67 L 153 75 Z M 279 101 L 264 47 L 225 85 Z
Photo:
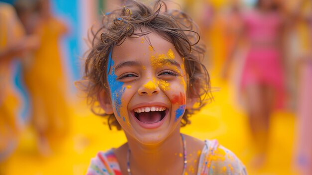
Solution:
M 160 122 L 166 115 L 166 108 L 162 106 L 140 107 L 133 111 L 135 117 L 146 124 Z

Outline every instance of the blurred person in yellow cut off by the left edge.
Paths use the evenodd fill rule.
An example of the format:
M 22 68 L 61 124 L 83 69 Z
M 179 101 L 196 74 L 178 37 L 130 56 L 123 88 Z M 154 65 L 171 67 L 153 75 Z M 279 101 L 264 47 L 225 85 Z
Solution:
M 25 36 L 16 12 L 0 2 L 0 174 L 4 163 L 15 149 L 22 123 L 18 120 L 19 99 L 12 83 L 12 60 L 25 57 L 38 47 L 36 36 Z

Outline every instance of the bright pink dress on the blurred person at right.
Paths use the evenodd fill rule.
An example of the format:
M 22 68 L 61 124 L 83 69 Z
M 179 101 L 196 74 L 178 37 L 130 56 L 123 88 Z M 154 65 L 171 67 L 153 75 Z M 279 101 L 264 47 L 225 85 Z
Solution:
M 276 107 L 282 107 L 284 101 L 284 73 L 280 49 L 276 46 L 282 27 L 282 18 L 278 13 L 261 14 L 249 12 L 244 17 L 246 36 L 250 41 L 241 86 L 267 84 L 276 90 Z

